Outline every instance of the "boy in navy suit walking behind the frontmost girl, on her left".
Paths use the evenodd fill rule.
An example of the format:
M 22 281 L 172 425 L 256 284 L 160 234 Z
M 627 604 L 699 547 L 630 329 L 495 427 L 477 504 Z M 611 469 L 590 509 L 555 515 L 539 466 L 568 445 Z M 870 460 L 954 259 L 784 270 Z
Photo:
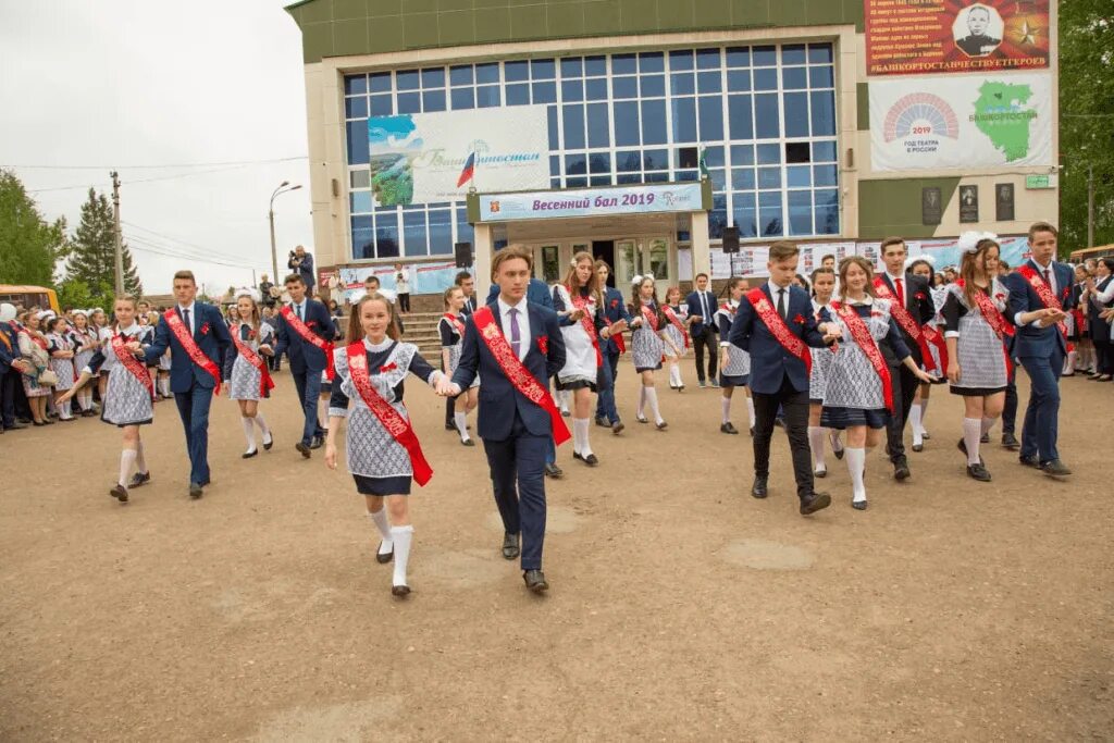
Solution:
M 325 440 L 325 429 L 317 420 L 317 397 L 321 394 L 321 372 L 330 365 L 336 329 L 329 316 L 329 309 L 306 296 L 305 281 L 300 275 L 291 274 L 284 283 L 290 293 L 290 306 L 283 307 L 278 314 L 275 355 L 282 356 L 285 352 L 290 359 L 290 373 L 294 378 L 294 389 L 297 390 L 297 401 L 304 416 L 302 440 L 294 448 L 309 459 L 310 450 L 319 449 Z M 299 321 L 311 338 L 303 338 L 295 329 L 293 323 Z M 321 339 L 329 351 L 314 345 L 312 336 Z

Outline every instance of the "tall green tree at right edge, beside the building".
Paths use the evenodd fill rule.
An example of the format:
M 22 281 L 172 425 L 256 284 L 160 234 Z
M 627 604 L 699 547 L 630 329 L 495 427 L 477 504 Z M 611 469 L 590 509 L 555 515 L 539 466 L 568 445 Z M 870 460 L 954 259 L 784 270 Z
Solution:
M 1059 3 L 1061 246 L 1087 243 L 1094 172 L 1095 245 L 1114 243 L 1114 17 L 1111 0 Z

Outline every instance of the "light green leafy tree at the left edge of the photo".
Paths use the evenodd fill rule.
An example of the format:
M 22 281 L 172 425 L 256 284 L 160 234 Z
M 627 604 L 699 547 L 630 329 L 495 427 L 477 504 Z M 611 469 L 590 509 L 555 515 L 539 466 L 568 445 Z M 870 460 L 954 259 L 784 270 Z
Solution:
M 0 170 L 0 284 L 51 286 L 66 252 L 66 219 L 48 223 L 16 174 Z

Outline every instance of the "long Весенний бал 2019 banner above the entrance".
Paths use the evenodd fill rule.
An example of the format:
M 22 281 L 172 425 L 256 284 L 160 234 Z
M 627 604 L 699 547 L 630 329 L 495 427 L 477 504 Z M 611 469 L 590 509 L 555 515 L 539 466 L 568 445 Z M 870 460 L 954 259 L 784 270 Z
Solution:
M 698 183 L 480 194 L 480 222 L 700 212 L 703 208 L 703 192 Z

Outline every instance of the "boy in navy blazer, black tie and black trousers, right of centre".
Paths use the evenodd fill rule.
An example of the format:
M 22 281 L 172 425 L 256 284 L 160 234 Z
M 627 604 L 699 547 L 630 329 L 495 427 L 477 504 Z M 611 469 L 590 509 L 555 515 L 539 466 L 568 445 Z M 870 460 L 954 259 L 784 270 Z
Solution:
M 801 515 L 808 516 L 831 504 L 827 492 L 813 490 L 812 453 L 809 449 L 808 346 L 831 345 L 839 330 L 824 335 L 817 326 L 812 300 L 793 286 L 800 252 L 793 243 L 770 246 L 770 281 L 743 295 L 731 325 L 731 343 L 751 354 L 751 393 L 754 397 L 754 485 L 751 495 L 766 497 L 770 477 L 770 438 L 778 409 L 785 413 L 785 430 L 793 454 L 793 476 L 801 499 Z M 809 359 L 809 362 L 805 362 Z

